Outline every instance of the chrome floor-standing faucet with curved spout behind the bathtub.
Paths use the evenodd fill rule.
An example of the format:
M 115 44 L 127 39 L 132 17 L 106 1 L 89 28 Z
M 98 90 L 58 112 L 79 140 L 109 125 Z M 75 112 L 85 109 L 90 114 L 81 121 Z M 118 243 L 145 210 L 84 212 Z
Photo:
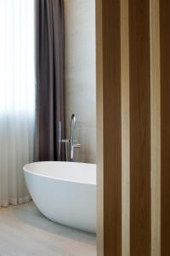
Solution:
M 76 143 L 77 141 L 74 138 L 74 130 L 76 129 L 77 119 L 75 114 L 71 115 L 71 137 L 70 137 L 70 160 L 71 162 L 74 159 L 74 148 L 80 148 L 81 144 Z

